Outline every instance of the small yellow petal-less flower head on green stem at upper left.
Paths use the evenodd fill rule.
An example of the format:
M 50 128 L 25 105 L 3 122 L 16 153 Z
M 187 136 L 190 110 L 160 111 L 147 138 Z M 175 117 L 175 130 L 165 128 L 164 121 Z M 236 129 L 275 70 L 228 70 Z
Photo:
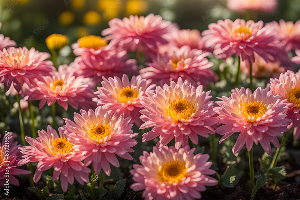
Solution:
M 58 51 L 68 44 L 69 38 L 66 35 L 54 33 L 49 35 L 45 42 L 50 51 Z

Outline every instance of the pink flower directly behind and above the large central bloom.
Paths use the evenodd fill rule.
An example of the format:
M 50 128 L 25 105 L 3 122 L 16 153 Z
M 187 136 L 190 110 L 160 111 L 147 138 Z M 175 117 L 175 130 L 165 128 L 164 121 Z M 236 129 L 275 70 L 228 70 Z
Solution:
M 171 81 L 177 82 L 179 77 L 190 80 L 194 86 L 206 86 L 215 79 L 214 72 L 209 69 L 213 63 L 205 58 L 209 54 L 190 49 L 189 46 L 182 46 L 180 49 L 173 47 L 168 52 L 158 54 L 153 63 L 148 63 L 149 67 L 140 70 L 140 75 L 161 87 L 169 85 Z

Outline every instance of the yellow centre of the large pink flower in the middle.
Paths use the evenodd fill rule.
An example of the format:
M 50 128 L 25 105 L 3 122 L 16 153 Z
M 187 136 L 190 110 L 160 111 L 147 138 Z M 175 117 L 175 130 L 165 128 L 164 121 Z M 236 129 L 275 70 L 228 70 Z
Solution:
M 193 105 L 184 99 L 171 103 L 167 110 L 167 114 L 173 117 L 175 121 L 181 121 L 181 119 L 187 120 L 193 113 Z

